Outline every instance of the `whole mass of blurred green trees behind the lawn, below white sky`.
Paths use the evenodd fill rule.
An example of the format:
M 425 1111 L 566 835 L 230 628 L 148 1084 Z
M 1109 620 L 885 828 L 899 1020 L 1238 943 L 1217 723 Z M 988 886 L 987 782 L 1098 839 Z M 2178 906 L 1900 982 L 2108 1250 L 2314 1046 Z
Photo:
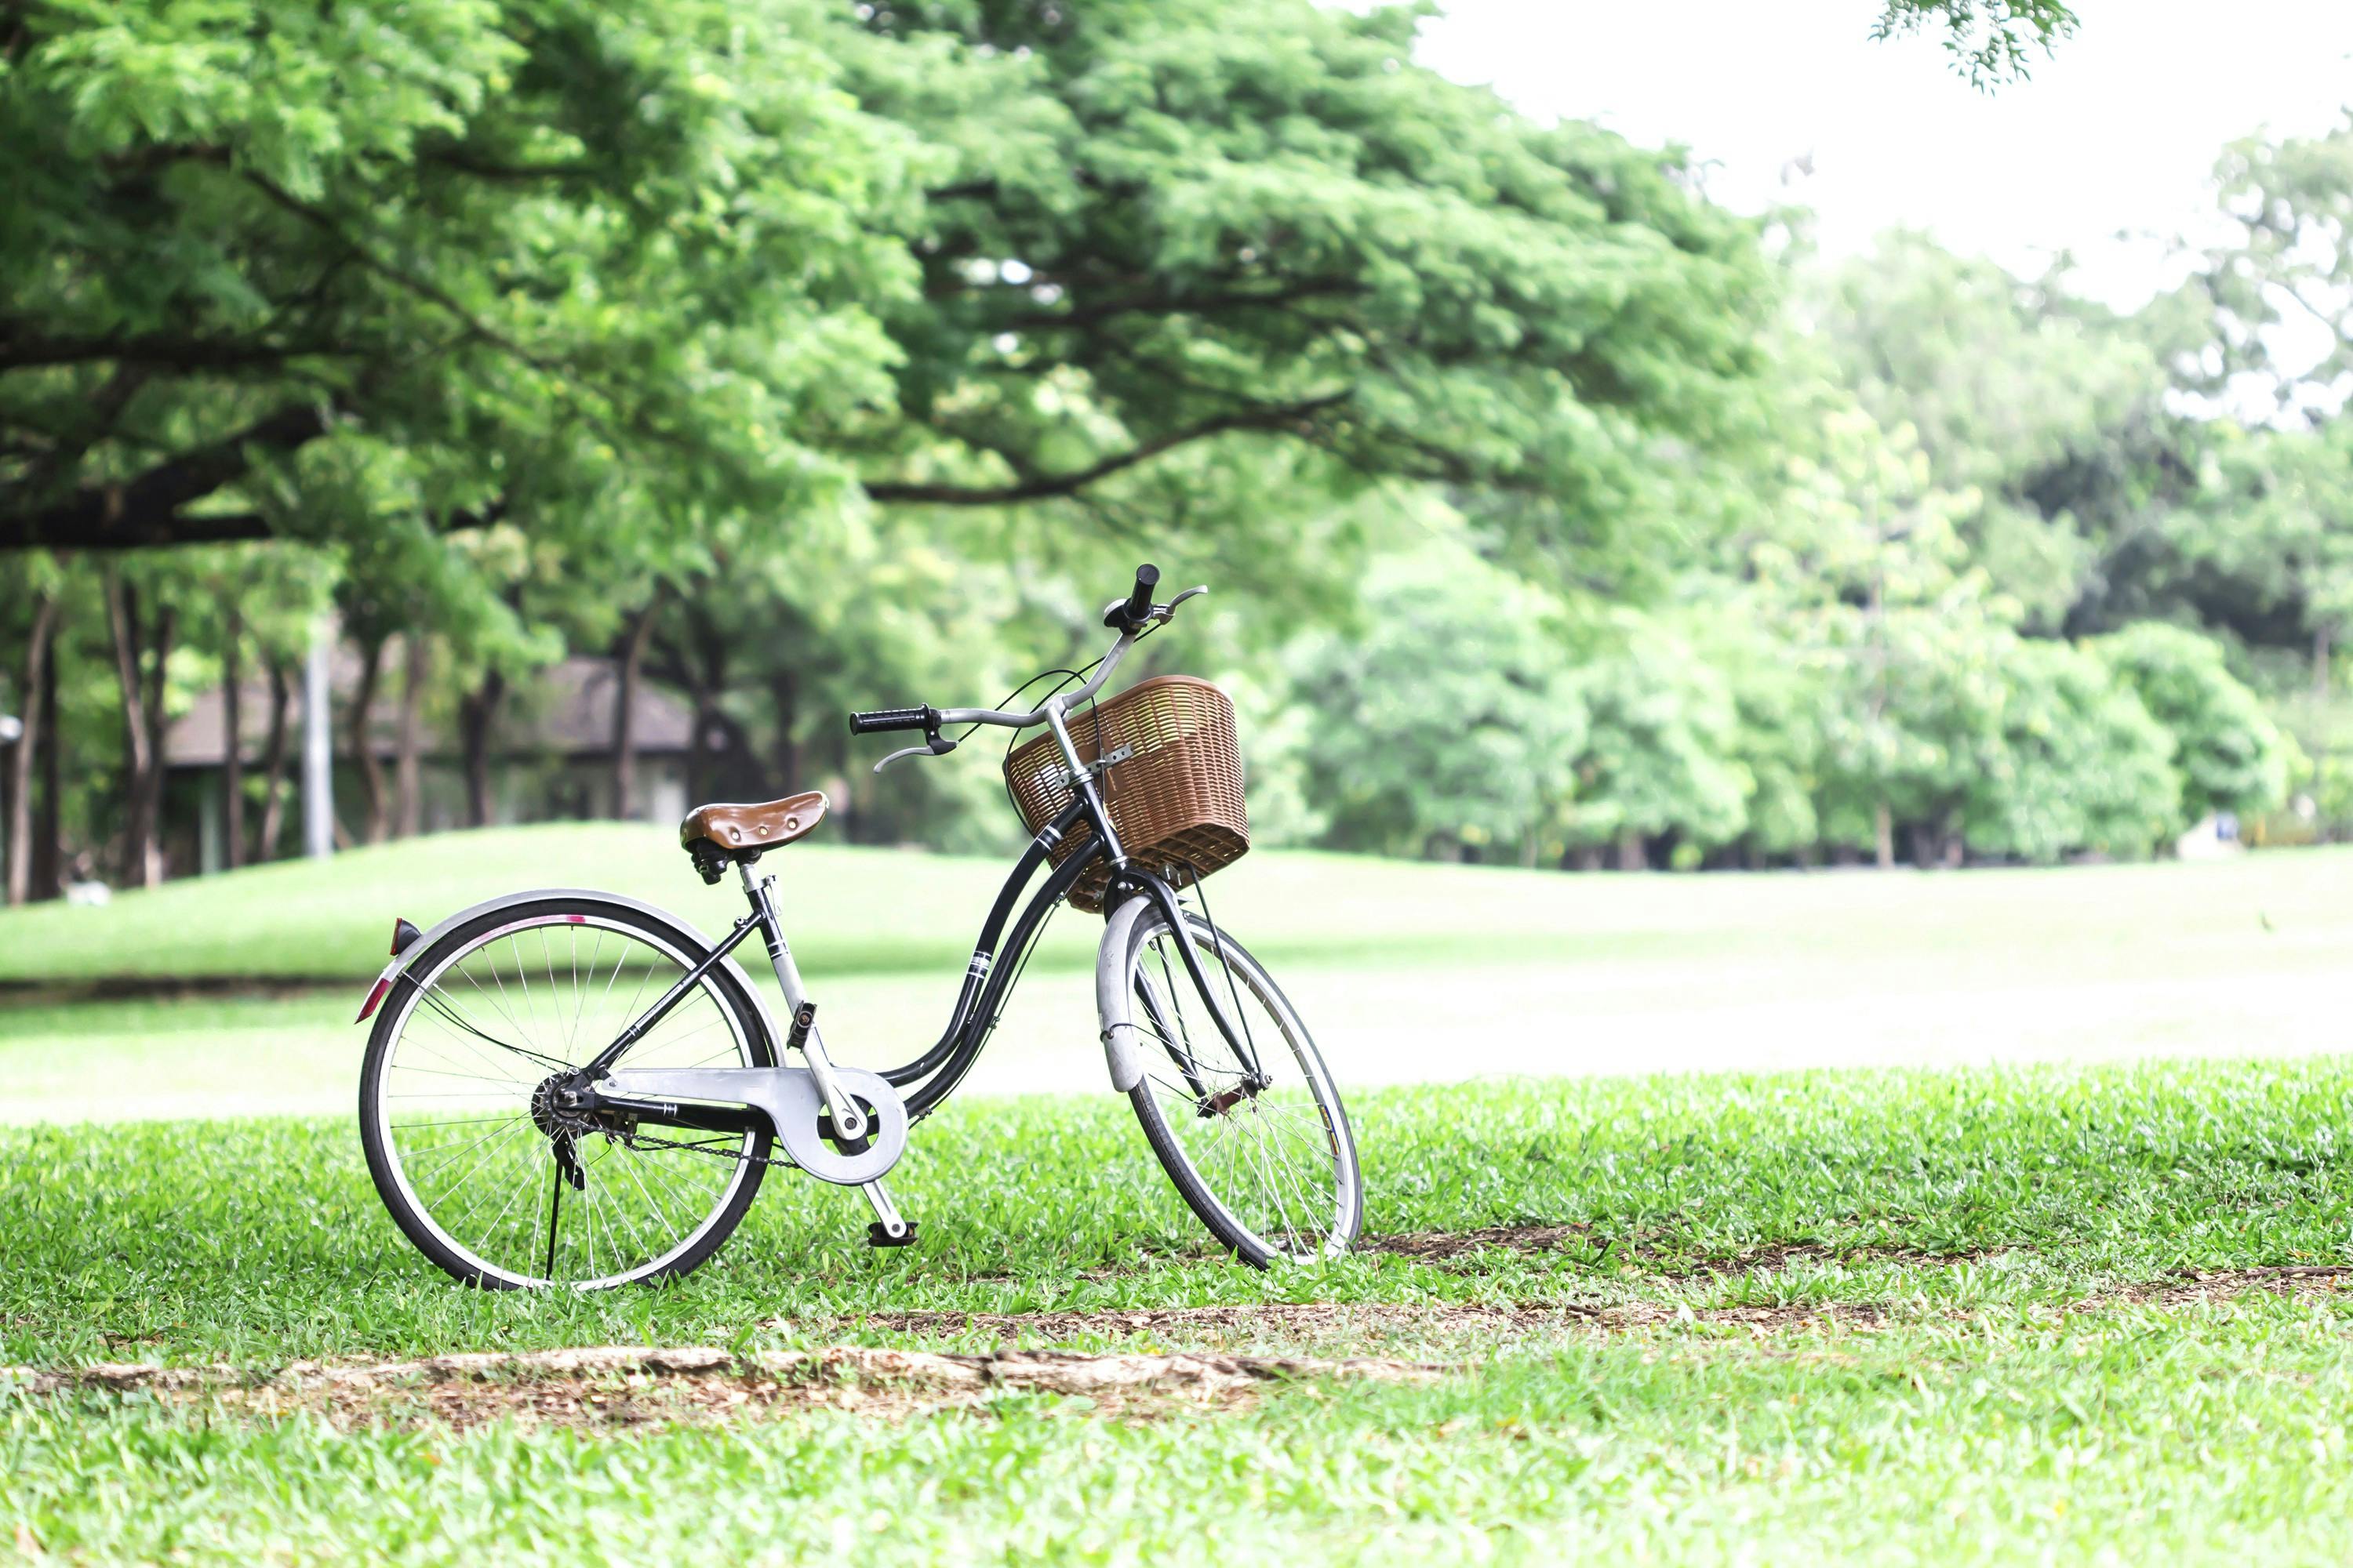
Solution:
M 1927 14 L 2019 66 L 1977 7 L 1882 26 Z M 1148 654 L 1238 693 L 1264 837 L 1944 865 L 2353 820 L 2353 132 L 2228 148 L 2228 242 L 2118 315 L 1918 235 L 1824 261 L 1421 71 L 1414 21 L 5 12 L 12 898 L 186 870 L 205 691 L 264 736 L 226 858 L 285 853 L 322 616 L 353 842 L 416 830 L 426 733 L 489 820 L 567 654 L 616 672 L 624 813 L 652 684 L 694 795 L 842 778 L 856 837 L 1002 842 L 986 769 L 868 778 L 840 712 L 1092 656 L 1146 557 L 1219 590 Z

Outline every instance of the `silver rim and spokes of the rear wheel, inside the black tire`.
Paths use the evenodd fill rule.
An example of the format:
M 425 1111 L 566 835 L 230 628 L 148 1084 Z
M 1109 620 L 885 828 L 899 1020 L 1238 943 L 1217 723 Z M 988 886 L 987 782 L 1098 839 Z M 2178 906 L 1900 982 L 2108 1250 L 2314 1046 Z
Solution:
M 536 914 L 487 931 L 400 985 L 376 1065 L 376 1138 L 416 1220 L 468 1272 L 518 1286 L 600 1291 L 675 1265 L 734 1201 L 755 1138 L 656 1128 L 694 1150 L 576 1143 L 546 1267 L 553 1140 L 532 1088 L 595 1056 L 692 959 L 602 914 Z M 645 1067 L 758 1065 L 744 1020 L 706 978 L 631 1048 Z M 431 1194 L 431 1197 L 428 1197 Z

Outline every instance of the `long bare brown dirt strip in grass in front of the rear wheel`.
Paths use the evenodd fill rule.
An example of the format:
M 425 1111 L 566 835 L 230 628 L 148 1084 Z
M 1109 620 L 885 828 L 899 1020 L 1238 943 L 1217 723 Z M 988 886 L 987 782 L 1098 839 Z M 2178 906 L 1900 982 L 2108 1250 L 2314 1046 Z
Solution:
M 628 1427 L 741 1420 L 791 1410 L 915 1415 L 986 1406 L 1005 1394 L 1089 1401 L 1099 1415 L 1148 1418 L 1176 1408 L 1231 1408 L 1306 1380 L 1424 1380 L 1438 1366 L 1388 1359 L 995 1352 L 934 1354 L 835 1345 L 805 1352 L 591 1347 L 536 1354 L 456 1354 L 424 1361 L 296 1361 L 275 1375 L 226 1366 L 101 1363 L 66 1371 L 0 1368 L 0 1387 L 33 1394 L 148 1394 L 256 1418 L 313 1410 L 344 1425 L 494 1418 L 536 1425 Z

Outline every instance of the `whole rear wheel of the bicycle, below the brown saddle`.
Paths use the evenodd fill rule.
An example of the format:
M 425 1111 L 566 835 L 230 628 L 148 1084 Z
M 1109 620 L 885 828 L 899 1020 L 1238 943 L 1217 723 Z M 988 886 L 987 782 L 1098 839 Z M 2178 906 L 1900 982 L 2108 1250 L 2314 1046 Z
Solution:
M 551 1093 L 706 952 L 647 910 L 551 896 L 492 910 L 416 954 L 360 1074 L 367 1171 L 416 1251 L 504 1291 L 668 1279 L 718 1251 L 760 1190 L 767 1133 L 616 1135 Z M 624 1058 L 774 1060 L 725 964 Z

